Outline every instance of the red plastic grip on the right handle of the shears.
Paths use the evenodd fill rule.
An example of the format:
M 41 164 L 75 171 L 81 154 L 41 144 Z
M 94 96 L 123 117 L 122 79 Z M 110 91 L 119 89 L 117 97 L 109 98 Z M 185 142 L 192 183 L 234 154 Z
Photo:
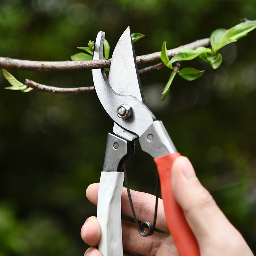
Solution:
M 180 153 L 172 153 L 154 159 L 161 183 L 165 217 L 180 256 L 200 256 L 196 238 L 172 193 L 172 164 L 179 156 Z

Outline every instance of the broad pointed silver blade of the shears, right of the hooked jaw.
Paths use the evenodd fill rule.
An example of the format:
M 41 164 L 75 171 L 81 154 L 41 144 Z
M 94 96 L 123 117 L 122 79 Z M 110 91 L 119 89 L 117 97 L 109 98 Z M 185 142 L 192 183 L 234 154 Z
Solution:
M 145 103 L 130 27 L 126 28 L 116 44 L 111 58 L 108 82 L 118 94 L 132 95 Z

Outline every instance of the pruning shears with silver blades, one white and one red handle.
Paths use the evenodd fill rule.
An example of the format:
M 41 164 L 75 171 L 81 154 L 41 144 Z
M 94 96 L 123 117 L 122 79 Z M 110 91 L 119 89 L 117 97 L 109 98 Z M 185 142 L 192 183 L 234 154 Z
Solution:
M 103 58 L 104 37 L 105 33 L 100 31 L 93 60 Z M 199 256 L 196 238 L 172 193 L 172 164 L 180 154 L 163 123 L 156 120 L 145 105 L 129 27 L 116 44 L 108 78 L 104 68 L 93 69 L 92 76 L 98 98 L 114 121 L 113 133 L 108 133 L 98 194 L 100 252 L 103 256 L 123 255 L 121 192 L 125 163 L 134 154 L 134 140 L 139 138 L 142 150 L 150 154 L 156 163 L 167 225 L 180 256 Z M 142 236 L 154 232 L 154 227 L 148 221 L 142 222 L 138 229 Z

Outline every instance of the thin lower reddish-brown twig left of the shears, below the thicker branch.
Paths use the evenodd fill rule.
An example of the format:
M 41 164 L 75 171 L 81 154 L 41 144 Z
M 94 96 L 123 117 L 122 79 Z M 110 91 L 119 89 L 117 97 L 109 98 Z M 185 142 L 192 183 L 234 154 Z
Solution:
M 40 92 L 53 92 L 53 93 L 60 93 L 60 94 L 72 94 L 72 93 L 83 93 L 83 92 L 93 92 L 94 87 L 76 87 L 76 88 L 60 88 L 60 87 L 53 87 L 44 84 L 38 84 L 32 80 L 26 79 L 25 84 L 27 87 L 31 87 L 36 89 Z

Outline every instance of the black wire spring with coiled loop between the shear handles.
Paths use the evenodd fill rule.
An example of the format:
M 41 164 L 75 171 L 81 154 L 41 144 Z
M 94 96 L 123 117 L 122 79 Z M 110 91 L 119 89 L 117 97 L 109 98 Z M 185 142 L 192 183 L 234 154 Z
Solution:
M 139 225 L 139 222 L 137 220 L 135 211 L 134 211 L 134 207 L 132 204 L 132 197 L 131 197 L 131 193 L 130 193 L 130 188 L 129 188 L 129 183 L 128 183 L 128 178 L 127 178 L 127 173 L 126 173 L 126 168 L 125 168 L 125 160 L 123 161 L 123 170 L 124 170 L 124 179 L 125 179 L 125 184 L 126 184 L 126 188 L 127 188 L 127 194 L 129 197 L 129 201 L 131 204 L 131 208 L 132 208 L 132 214 L 133 214 L 133 219 L 135 221 L 135 224 L 137 226 L 137 229 L 140 233 L 141 236 L 151 236 L 153 235 L 155 228 L 156 228 L 156 216 L 157 216 L 157 205 L 158 205 L 158 188 L 159 188 L 159 176 L 157 173 L 157 178 L 156 178 L 156 204 L 155 204 L 155 214 L 154 214 L 154 221 L 153 221 L 153 225 L 149 222 L 149 221 L 143 221 L 141 222 L 141 224 Z M 145 231 L 144 228 L 148 228 L 148 232 Z

